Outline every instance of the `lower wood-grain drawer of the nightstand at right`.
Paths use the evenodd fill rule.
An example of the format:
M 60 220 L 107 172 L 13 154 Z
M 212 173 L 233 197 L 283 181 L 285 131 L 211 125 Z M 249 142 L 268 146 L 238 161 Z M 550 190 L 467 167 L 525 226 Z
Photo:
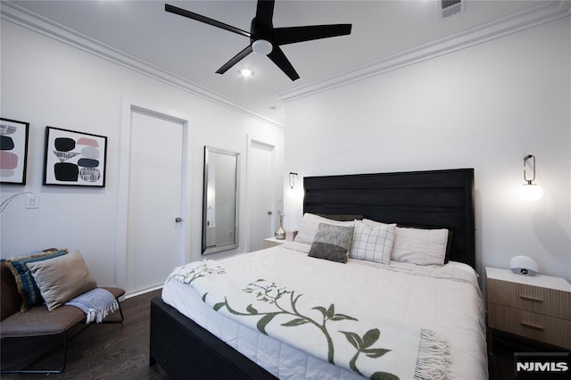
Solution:
M 488 303 L 488 326 L 571 350 L 571 321 Z

